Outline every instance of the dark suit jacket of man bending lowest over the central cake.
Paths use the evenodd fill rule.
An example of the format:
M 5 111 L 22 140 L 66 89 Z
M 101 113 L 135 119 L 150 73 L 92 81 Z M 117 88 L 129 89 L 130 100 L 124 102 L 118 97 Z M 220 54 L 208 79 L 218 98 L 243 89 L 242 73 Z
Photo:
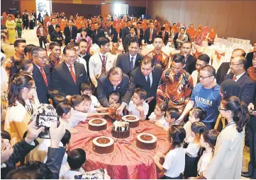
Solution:
M 113 92 L 113 85 L 108 80 L 108 74 L 102 73 L 101 76 L 97 79 L 98 87 L 97 87 L 97 97 L 99 102 L 103 107 L 109 107 L 108 96 Z M 129 77 L 123 73 L 122 82 L 116 87 L 116 91 L 121 94 L 122 102 L 126 102 L 129 104 L 130 99 L 123 97 L 126 94 L 126 90 L 128 90 Z M 131 97 L 131 95 L 130 95 Z

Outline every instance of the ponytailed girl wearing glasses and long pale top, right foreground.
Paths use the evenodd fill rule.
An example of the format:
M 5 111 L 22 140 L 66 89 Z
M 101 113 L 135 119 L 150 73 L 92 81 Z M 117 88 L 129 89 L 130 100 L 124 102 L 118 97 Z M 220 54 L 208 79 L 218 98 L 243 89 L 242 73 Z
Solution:
M 219 107 L 228 124 L 217 138 L 213 160 L 204 173 L 206 179 L 240 179 L 242 172 L 247 105 L 238 97 L 224 97 Z

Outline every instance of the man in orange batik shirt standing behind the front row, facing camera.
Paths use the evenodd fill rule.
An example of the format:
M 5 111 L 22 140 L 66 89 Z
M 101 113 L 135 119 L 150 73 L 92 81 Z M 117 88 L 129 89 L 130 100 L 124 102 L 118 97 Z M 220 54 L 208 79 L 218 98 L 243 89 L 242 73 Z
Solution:
M 162 40 L 161 35 L 157 35 L 153 42 L 155 49 L 148 54 L 154 60 L 154 64 L 162 67 L 162 70 L 165 70 L 169 64 L 169 56 L 162 52 L 162 45 L 164 41 Z

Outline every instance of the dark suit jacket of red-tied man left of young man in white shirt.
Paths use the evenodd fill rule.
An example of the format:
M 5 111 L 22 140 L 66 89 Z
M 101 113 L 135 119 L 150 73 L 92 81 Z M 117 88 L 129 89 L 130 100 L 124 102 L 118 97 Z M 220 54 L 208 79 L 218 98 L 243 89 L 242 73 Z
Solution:
M 63 96 L 79 95 L 80 85 L 88 81 L 87 72 L 84 64 L 74 62 L 74 73 L 76 75 L 77 83 L 70 74 L 69 68 L 65 62 L 58 64 L 52 68 L 52 88 L 59 90 Z

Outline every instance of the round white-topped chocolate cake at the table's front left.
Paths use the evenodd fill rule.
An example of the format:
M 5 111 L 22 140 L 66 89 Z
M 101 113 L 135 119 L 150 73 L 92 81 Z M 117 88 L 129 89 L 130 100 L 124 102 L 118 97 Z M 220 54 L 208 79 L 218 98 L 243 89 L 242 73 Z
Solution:
M 112 138 L 100 136 L 92 140 L 92 150 L 98 154 L 108 154 L 113 152 L 113 149 L 114 145 Z

